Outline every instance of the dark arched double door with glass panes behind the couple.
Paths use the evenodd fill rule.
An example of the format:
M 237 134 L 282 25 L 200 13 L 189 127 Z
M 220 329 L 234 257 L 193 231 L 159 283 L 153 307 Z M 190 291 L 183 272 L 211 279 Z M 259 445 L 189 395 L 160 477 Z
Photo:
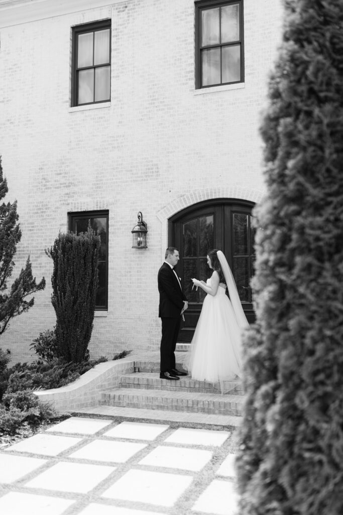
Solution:
M 250 278 L 254 272 L 254 228 L 251 210 L 254 202 L 239 199 L 207 200 L 178 212 L 169 219 L 169 245 L 179 249 L 177 272 L 189 300 L 179 341 L 192 339 L 205 293 L 192 290 L 191 278 L 205 280 L 210 275 L 206 263 L 209 249 L 222 250 L 236 280 L 248 321 L 255 320 Z

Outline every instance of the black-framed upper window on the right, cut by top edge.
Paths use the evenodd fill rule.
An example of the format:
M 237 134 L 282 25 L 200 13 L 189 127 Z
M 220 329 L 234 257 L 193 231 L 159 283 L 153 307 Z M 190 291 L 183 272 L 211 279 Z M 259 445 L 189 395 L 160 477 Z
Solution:
M 195 4 L 196 88 L 243 82 L 243 0 Z

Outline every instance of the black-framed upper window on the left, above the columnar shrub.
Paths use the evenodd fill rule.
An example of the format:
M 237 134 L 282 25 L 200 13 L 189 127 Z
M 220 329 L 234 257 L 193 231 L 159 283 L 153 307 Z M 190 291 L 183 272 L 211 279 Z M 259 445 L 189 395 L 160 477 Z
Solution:
M 71 106 L 111 100 L 111 20 L 73 28 Z

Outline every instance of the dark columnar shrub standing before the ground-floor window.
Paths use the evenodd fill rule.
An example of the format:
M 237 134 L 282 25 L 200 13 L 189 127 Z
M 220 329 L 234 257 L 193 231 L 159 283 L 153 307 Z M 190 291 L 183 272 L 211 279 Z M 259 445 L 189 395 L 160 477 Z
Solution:
M 85 233 L 60 233 L 46 251 L 53 260 L 51 302 L 58 354 L 68 362 L 82 362 L 91 340 L 99 248 L 100 237 L 88 227 Z

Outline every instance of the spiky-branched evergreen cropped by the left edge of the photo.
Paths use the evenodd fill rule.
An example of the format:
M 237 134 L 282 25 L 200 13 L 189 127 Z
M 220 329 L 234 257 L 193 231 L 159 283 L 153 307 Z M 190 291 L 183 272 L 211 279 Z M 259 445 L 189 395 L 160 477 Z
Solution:
M 3 176 L 0 157 L 0 200 L 8 193 L 7 180 Z M 0 205 L 0 335 L 8 328 L 10 320 L 28 311 L 34 304 L 34 297 L 27 300 L 36 291 L 45 288 L 45 279 L 37 284 L 32 276 L 30 258 L 26 260 L 19 276 L 8 288 L 8 281 L 14 268 L 16 245 L 21 241 L 22 231 L 19 226 L 19 215 L 16 212 L 16 200 Z

